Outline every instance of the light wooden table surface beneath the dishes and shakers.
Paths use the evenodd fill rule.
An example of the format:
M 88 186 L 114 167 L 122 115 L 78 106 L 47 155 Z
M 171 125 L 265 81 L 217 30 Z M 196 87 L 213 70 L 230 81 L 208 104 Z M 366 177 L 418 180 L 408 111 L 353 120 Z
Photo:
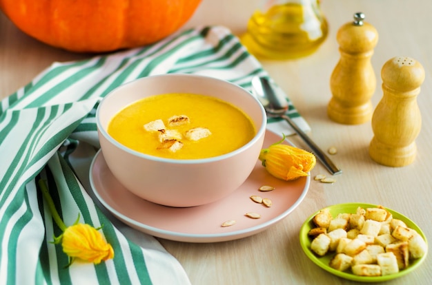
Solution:
M 226 25 L 235 34 L 244 32 L 259 0 L 204 0 L 184 28 Z M 334 184 L 312 180 L 306 198 L 293 213 L 270 229 L 230 242 L 193 244 L 160 240 L 184 266 L 192 284 L 355 284 L 335 277 L 308 260 L 299 244 L 300 226 L 309 215 L 331 204 L 366 202 L 382 204 L 413 220 L 432 240 L 432 36 L 429 0 L 322 0 L 330 31 L 320 49 L 295 61 L 262 61 L 311 125 L 311 137 L 322 149 L 337 147 L 332 156 L 343 169 Z M 340 58 L 336 32 L 364 12 L 380 35 L 372 57 L 377 77 L 373 106 L 382 98 L 380 71 L 394 56 L 409 56 L 422 63 L 426 78 L 418 96 L 422 130 L 416 139 L 418 156 L 406 167 L 385 167 L 369 157 L 371 123 L 340 125 L 331 121 L 326 107 L 331 98 L 329 78 Z M 0 98 L 26 85 L 54 61 L 86 59 L 39 43 L 0 16 Z M 296 136 L 295 144 L 305 147 Z M 311 175 L 327 173 L 318 164 Z M 432 257 L 416 271 L 391 284 L 429 284 Z

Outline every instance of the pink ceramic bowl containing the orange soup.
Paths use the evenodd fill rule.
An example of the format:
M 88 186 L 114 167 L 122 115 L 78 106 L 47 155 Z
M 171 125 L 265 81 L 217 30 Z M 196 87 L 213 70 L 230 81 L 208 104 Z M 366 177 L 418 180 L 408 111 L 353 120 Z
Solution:
M 251 117 L 257 134 L 243 147 L 213 158 L 175 160 L 141 154 L 108 135 L 110 119 L 130 103 L 146 96 L 193 93 L 215 96 Z M 121 85 L 97 109 L 97 129 L 106 164 L 121 184 L 136 196 L 171 207 L 208 204 L 235 191 L 249 176 L 262 149 L 266 113 L 242 87 L 206 76 L 166 74 Z

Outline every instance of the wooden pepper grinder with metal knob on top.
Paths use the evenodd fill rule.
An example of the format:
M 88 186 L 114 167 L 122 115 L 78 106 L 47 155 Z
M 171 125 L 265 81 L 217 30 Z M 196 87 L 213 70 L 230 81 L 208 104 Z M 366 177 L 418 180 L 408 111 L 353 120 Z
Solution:
M 340 61 L 330 78 L 333 97 L 327 114 L 331 120 L 346 125 L 365 123 L 373 113 L 370 99 L 375 92 L 376 78 L 371 57 L 378 33 L 364 18 L 362 12 L 355 13 L 354 21 L 342 25 L 336 36 Z

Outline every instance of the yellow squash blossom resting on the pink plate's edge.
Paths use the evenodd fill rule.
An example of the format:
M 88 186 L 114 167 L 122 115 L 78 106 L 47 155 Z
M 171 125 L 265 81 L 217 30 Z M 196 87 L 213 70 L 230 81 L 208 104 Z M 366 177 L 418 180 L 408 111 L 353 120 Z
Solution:
M 308 151 L 282 145 L 285 136 L 279 142 L 267 149 L 262 149 L 259 160 L 266 167 L 268 173 L 282 180 L 294 180 L 302 176 L 308 176 L 317 162 L 315 156 Z

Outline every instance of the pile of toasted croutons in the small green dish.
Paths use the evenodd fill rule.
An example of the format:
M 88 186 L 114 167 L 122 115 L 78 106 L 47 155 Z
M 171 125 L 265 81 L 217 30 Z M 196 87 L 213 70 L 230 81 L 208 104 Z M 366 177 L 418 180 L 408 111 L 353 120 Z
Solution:
M 335 253 L 330 266 L 360 276 L 382 276 L 407 268 L 426 254 L 423 237 L 382 206 L 358 207 L 335 218 L 328 209 L 314 216 L 311 250 L 319 256 Z

